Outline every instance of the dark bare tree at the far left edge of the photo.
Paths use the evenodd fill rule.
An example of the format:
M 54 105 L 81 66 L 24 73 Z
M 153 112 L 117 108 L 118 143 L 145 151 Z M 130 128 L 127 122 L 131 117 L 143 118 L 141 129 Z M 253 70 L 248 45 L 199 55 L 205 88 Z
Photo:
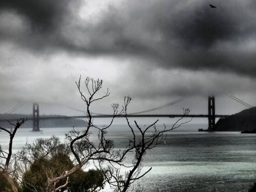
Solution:
M 0 130 L 3 130 L 10 135 L 8 152 L 5 152 L 4 150 L 2 150 L 2 146 L 0 145 L 0 158 L 1 158 L 1 160 L 4 159 L 4 161 L 0 161 L 0 163 L 1 163 L 0 169 L 2 169 L 4 177 L 7 179 L 8 183 L 11 185 L 14 192 L 17 192 L 18 190 L 17 190 L 17 187 L 15 186 L 15 183 L 13 182 L 12 178 L 10 177 L 12 172 L 14 172 L 14 170 L 10 170 L 11 157 L 12 157 L 12 142 L 13 142 L 13 138 L 14 138 L 18 128 L 22 124 L 24 124 L 26 122 L 26 120 L 27 119 L 25 119 L 25 118 L 20 118 L 17 120 L 16 124 L 12 124 L 11 122 L 8 121 L 11 125 L 14 126 L 14 130 L 12 133 L 9 130 L 0 127 Z

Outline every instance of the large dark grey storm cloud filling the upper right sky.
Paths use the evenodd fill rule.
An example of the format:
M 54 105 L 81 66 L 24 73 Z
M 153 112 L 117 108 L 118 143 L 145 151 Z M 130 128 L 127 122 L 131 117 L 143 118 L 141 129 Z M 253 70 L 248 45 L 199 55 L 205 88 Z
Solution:
M 158 67 L 221 70 L 254 76 L 256 8 L 254 1 L 130 1 L 112 8 L 97 25 L 95 51 L 157 61 Z M 250 47 L 248 44 L 252 42 Z M 98 49 L 97 49 L 98 48 Z

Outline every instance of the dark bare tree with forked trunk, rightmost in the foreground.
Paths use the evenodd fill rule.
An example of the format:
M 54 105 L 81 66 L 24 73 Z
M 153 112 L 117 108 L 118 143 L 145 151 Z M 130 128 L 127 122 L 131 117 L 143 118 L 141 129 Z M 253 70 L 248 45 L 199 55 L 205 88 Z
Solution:
M 172 127 L 168 128 L 164 124 L 164 129 L 158 130 L 156 128 L 156 123 L 158 122 L 158 120 L 151 125 L 145 127 L 144 129 L 142 129 L 135 120 L 135 127 L 133 127 L 129 122 L 129 118 L 127 117 L 127 106 L 129 105 L 131 100 L 132 98 L 130 96 L 124 97 L 124 113 L 127 124 L 129 125 L 132 132 L 133 138 L 130 140 L 128 148 L 123 151 L 121 157 L 124 157 L 128 153 L 133 153 L 134 158 L 132 160 L 132 165 L 126 166 L 119 163 L 119 165 L 121 165 L 121 168 L 129 167 L 129 171 L 125 172 L 125 174 L 122 174 L 121 168 L 114 166 L 113 163 L 111 164 L 111 166 L 108 166 L 108 168 L 105 169 L 105 176 L 106 178 L 108 178 L 108 182 L 115 189 L 115 191 L 118 192 L 125 192 L 131 186 L 131 184 L 133 184 L 136 180 L 144 177 L 148 172 L 150 172 L 152 167 L 146 170 L 144 173 L 141 173 L 143 168 L 142 161 L 148 150 L 152 150 L 157 145 L 163 143 L 163 137 L 166 132 L 177 129 L 180 125 L 191 121 L 191 119 L 189 119 L 188 121 L 179 123 L 190 112 L 189 109 L 183 109 L 183 116 L 178 119 Z M 139 131 L 137 134 L 136 130 Z M 140 185 L 138 185 L 138 187 L 133 188 L 133 190 L 142 191 L 142 188 L 140 187 Z

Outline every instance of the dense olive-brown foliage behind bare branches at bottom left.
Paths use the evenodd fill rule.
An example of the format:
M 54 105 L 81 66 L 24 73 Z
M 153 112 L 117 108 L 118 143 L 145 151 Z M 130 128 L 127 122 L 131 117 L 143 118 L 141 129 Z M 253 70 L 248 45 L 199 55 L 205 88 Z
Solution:
M 52 138 L 50 138 L 52 139 Z M 22 192 L 45 191 L 48 187 L 47 175 L 56 177 L 65 173 L 74 166 L 67 154 L 57 153 L 51 158 L 40 157 L 26 170 L 22 180 Z M 79 170 L 70 177 L 70 181 L 61 191 L 88 191 L 90 188 L 103 187 L 103 175 L 98 170 L 90 169 L 88 172 Z M 65 185 L 66 180 L 61 179 L 58 185 Z

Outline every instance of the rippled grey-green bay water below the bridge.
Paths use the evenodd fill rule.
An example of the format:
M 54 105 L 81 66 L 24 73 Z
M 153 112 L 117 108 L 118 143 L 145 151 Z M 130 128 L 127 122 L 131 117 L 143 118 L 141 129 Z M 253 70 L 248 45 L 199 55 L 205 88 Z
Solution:
M 24 146 L 26 137 L 30 143 L 38 137 L 51 135 L 64 140 L 64 134 L 70 129 L 41 130 L 36 133 L 29 129 L 18 130 L 14 151 Z M 143 191 L 248 191 L 256 180 L 255 134 L 186 130 L 169 132 L 166 144 L 147 152 L 143 161 L 144 170 L 153 169 L 140 179 Z M 96 134 L 92 137 L 96 139 Z M 131 133 L 125 125 L 114 125 L 108 137 L 122 150 L 129 142 Z M 7 134 L 0 132 L 3 147 L 8 146 L 8 139 Z

